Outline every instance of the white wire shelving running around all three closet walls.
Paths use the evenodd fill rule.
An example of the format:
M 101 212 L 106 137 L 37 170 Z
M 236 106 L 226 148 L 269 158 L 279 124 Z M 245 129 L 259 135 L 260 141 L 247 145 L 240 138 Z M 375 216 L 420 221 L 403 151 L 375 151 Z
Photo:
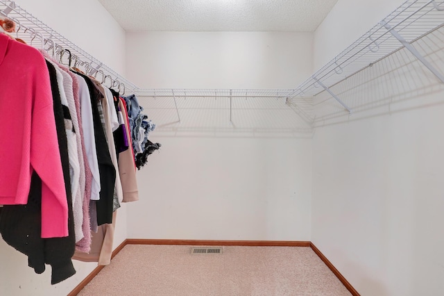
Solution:
M 341 96 L 335 94 L 332 88 L 335 85 L 349 79 L 350 76 L 371 67 L 387 56 L 407 49 L 413 56 L 436 76 L 438 81 L 444 83 L 441 72 L 429 63 L 420 52 L 413 47 L 416 42 L 425 35 L 436 31 L 444 24 L 444 1 L 435 0 L 408 0 L 405 1 L 393 13 L 362 35 L 353 44 L 347 47 L 341 54 L 333 58 L 321 69 L 309 76 L 307 80 L 291 90 L 257 90 L 257 89 L 143 89 L 128 81 L 123 76 L 104 65 L 99 60 L 88 54 L 73 42 L 67 40 L 39 19 L 17 6 L 14 1 L 0 0 L 0 15 L 5 15 L 17 22 L 17 26 L 28 28 L 31 36 L 35 38 L 41 35 L 42 40 L 52 40 L 60 47 L 69 49 L 71 54 L 79 60 L 88 63 L 94 72 L 102 71 L 112 76 L 114 80 L 125 85 L 126 93 L 134 93 L 142 97 L 171 97 L 174 99 L 176 110 L 176 98 L 178 97 L 223 97 L 231 99 L 237 97 L 262 97 L 285 98 L 287 103 L 297 98 L 313 98 L 319 94 L 327 93 L 329 99 L 335 99 L 341 105 L 341 112 L 352 113 L 352 108 L 341 100 Z M 38 38 L 37 38 L 38 39 Z M 441 48 L 442 49 L 442 48 Z M 178 110 L 177 110 L 178 111 Z M 338 110 L 336 109 L 335 112 Z M 178 112 L 179 116 L 179 112 Z M 231 117 L 231 116 L 230 116 Z M 230 118 L 231 120 L 231 118 Z

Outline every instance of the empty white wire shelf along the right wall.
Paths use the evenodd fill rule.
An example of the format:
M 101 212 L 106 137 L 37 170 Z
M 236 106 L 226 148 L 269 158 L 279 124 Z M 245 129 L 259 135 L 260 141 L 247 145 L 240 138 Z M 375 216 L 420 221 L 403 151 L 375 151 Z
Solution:
M 347 49 L 295 89 L 291 97 L 313 97 L 340 81 L 398 51 L 404 44 L 398 32 L 411 43 L 444 24 L 444 1 L 409 0 L 371 28 Z

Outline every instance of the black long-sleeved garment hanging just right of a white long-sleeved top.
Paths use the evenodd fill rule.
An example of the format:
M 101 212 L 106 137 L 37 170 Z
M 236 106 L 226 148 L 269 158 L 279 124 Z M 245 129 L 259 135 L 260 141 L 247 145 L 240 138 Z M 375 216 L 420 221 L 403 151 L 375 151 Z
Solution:
M 82 76 L 89 90 L 92 106 L 92 120 L 94 122 L 94 139 L 96 140 L 97 161 L 99 163 L 100 173 L 100 199 L 96 201 L 97 208 L 97 224 L 111 224 L 112 223 L 112 204 L 114 196 L 114 183 L 116 182 L 116 170 L 111 161 L 110 150 L 108 149 L 108 142 L 105 137 L 105 131 L 100 120 L 99 109 L 97 102 L 101 100 L 102 94 L 97 89 L 96 85 L 81 73 L 76 74 Z

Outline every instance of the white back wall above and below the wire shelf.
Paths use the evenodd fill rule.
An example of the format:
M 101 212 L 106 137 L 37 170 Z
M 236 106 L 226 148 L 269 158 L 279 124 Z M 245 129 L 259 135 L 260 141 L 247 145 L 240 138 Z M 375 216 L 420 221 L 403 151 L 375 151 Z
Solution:
M 294 88 L 308 33 L 128 33 L 142 88 Z M 129 238 L 310 240 L 311 129 L 282 99 L 139 97 L 162 149 L 138 172 Z M 308 131 L 307 131 L 308 129 Z

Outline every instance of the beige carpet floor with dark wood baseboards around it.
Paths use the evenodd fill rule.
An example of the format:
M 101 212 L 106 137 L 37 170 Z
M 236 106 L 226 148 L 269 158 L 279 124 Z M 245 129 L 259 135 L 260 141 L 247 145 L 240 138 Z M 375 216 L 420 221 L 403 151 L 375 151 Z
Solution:
M 126 245 L 78 295 L 350 295 L 309 247 L 223 247 L 223 254 L 190 250 Z

